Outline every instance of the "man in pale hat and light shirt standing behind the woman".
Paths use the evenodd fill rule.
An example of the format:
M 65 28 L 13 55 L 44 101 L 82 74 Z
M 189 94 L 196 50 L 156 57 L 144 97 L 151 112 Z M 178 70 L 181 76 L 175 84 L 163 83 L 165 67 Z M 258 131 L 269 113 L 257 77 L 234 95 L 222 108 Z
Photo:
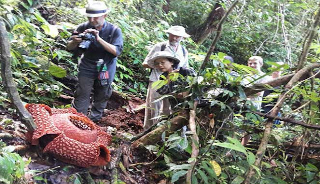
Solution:
M 179 59 L 177 68 L 187 67 L 188 66 L 188 52 L 184 46 L 182 46 L 181 40 L 190 35 L 185 32 L 184 27 L 180 25 L 173 25 L 168 29 L 164 30 L 168 33 L 168 40 L 156 43 L 149 51 L 145 57 L 142 66 L 144 68 L 151 68 L 151 73 L 149 77 L 149 84 L 146 93 L 145 99 L 145 112 L 144 112 L 144 122 L 143 128 L 148 129 L 151 125 L 155 124 L 158 121 L 158 117 L 161 115 L 170 114 L 170 104 L 167 98 L 164 98 L 160 101 L 154 102 L 157 98 L 160 97 L 160 94 L 152 88 L 152 83 L 159 79 L 159 76 L 163 73 L 158 68 L 150 66 L 148 60 L 154 56 L 155 53 L 159 51 L 168 51 L 175 58 Z

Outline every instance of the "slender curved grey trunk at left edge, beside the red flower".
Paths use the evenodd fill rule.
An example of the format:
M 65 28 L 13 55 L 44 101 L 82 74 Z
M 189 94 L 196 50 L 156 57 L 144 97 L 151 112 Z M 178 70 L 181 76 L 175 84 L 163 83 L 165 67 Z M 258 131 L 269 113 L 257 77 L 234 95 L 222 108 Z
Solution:
M 2 20 L 0 20 L 0 61 L 2 84 L 5 91 L 8 93 L 11 104 L 15 106 L 15 109 L 17 110 L 22 123 L 28 128 L 29 131 L 33 131 L 36 126 L 33 123 L 31 115 L 24 108 L 24 105 L 22 104 L 19 93 L 13 81 L 11 73 L 10 43 L 8 41 L 6 30 Z

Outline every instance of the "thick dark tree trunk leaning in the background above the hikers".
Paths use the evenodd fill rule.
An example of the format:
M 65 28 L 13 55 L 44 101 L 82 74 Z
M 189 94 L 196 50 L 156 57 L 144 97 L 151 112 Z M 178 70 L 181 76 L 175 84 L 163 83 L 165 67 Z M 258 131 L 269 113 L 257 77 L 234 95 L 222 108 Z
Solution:
M 206 21 L 190 32 L 193 35 L 193 40 L 198 44 L 203 43 L 209 34 L 217 29 L 217 25 L 223 15 L 224 9 L 221 4 L 215 3 Z

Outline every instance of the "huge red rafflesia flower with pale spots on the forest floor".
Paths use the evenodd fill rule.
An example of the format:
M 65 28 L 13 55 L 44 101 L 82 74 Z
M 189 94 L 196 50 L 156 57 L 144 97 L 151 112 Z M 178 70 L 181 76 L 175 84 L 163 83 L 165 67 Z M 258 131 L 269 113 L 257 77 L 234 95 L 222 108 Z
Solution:
M 32 145 L 49 141 L 44 153 L 80 167 L 105 166 L 110 161 L 111 136 L 74 108 L 53 109 L 44 104 L 26 104 L 25 108 L 37 126 L 27 138 Z

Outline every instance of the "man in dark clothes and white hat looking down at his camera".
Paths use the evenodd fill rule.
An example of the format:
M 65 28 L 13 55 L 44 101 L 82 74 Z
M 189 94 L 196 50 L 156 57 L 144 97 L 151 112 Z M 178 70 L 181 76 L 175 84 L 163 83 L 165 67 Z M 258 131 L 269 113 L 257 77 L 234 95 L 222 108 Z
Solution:
M 109 9 L 104 2 L 89 1 L 81 11 L 88 21 L 77 27 L 66 45 L 68 50 L 82 53 L 78 61 L 78 84 L 71 105 L 77 112 L 87 115 L 93 88 L 88 117 L 96 122 L 101 119 L 112 93 L 111 83 L 117 56 L 123 48 L 123 38 L 121 29 L 105 20 Z

